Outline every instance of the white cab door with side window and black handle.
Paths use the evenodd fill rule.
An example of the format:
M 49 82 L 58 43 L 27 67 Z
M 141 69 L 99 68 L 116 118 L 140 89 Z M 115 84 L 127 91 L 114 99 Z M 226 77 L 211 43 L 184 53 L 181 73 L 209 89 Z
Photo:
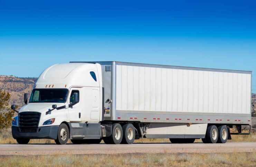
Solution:
M 73 104 L 74 103 L 74 93 L 78 93 L 78 103 L 73 105 L 72 107 L 68 108 L 68 114 L 69 114 L 69 121 L 70 122 L 80 122 L 82 117 L 82 109 L 81 109 L 81 94 L 82 89 L 80 88 L 71 88 L 68 98 L 68 103 Z

